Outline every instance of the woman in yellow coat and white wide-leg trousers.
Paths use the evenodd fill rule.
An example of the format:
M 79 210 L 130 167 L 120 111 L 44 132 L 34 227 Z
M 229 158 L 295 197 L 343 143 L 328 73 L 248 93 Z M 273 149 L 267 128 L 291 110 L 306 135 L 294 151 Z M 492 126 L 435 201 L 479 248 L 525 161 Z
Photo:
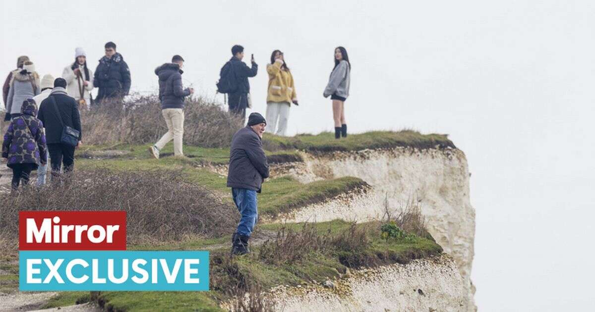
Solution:
M 285 63 L 283 52 L 273 51 L 271 64 L 267 65 L 267 73 L 267 128 L 271 133 L 285 135 L 289 107 L 291 103 L 297 105 L 297 96 L 293 76 Z

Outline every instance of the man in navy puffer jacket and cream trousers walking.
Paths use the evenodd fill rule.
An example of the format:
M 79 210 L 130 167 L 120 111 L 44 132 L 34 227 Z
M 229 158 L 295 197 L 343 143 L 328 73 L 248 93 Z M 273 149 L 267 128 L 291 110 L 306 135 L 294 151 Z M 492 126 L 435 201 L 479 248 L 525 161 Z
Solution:
M 181 68 L 184 59 L 174 55 L 171 63 L 165 63 L 155 69 L 159 77 L 159 100 L 161 101 L 161 114 L 167 124 L 167 133 L 154 146 L 149 147 L 149 152 L 159 159 L 159 150 L 172 139 L 174 140 L 174 156 L 184 156 L 182 152 L 182 138 L 184 137 L 184 97 L 194 93 L 194 89 L 184 89 L 182 86 Z

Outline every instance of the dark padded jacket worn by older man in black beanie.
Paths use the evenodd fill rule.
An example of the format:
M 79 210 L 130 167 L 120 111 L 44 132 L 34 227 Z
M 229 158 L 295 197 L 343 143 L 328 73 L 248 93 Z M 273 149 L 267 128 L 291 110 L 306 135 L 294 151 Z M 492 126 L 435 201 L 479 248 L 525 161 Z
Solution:
M 268 178 L 268 163 L 261 138 L 246 126 L 231 138 L 227 186 L 260 193 L 265 178 Z

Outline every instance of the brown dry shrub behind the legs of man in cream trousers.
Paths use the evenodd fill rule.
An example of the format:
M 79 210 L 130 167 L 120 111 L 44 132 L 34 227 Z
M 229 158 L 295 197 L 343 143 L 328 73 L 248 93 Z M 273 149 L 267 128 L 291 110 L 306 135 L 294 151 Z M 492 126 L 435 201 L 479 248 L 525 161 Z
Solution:
M 242 127 L 237 116 L 231 116 L 211 100 L 186 99 L 185 105 L 184 144 L 228 147 L 233 134 Z M 105 102 L 91 111 L 81 112 L 81 121 L 87 144 L 155 143 L 167 132 L 157 96 Z

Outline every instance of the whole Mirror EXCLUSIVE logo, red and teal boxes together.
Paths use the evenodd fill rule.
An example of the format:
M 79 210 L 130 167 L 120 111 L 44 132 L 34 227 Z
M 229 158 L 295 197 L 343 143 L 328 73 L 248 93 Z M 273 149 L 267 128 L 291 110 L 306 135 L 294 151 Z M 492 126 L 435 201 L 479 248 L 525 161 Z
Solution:
M 124 211 L 19 212 L 20 291 L 208 291 L 208 251 L 127 251 Z

